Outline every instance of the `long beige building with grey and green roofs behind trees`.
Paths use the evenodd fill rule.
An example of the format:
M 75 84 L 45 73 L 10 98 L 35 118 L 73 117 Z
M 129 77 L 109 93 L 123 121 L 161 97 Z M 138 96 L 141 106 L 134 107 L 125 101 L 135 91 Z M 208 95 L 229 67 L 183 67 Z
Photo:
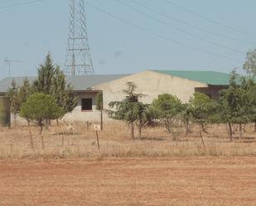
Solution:
M 0 95 L 7 92 L 12 79 L 20 85 L 25 78 L 0 80 Z M 35 78 L 27 79 L 32 81 Z M 99 111 L 96 110 L 95 98 L 99 92 L 103 92 L 105 109 L 109 108 L 109 102 L 125 98 L 123 89 L 127 82 L 133 82 L 138 87 L 137 92 L 145 94 L 141 98 L 143 103 L 152 103 L 162 93 L 176 95 L 184 103 L 195 92 L 216 99 L 220 90 L 229 84 L 229 74 L 214 71 L 147 70 L 137 74 L 67 76 L 66 80 L 74 86 L 78 105 L 72 113 L 65 115 L 65 119 L 98 122 Z M 104 118 L 107 120 L 107 115 Z

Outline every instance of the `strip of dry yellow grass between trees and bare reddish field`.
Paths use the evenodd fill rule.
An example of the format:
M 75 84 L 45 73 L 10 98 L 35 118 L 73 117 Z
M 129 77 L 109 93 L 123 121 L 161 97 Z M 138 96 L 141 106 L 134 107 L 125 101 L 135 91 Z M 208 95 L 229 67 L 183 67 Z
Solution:
M 43 133 L 45 148 L 36 127 L 13 127 L 0 130 L 0 159 L 77 159 L 109 157 L 172 157 L 172 156 L 256 156 L 256 134 L 253 125 L 246 127 L 244 138 L 229 142 L 225 125 L 209 126 L 209 134 L 200 139 L 199 127 L 193 126 L 186 136 L 183 127 L 176 127 L 177 141 L 162 127 L 147 127 L 142 140 L 132 140 L 128 127 L 121 123 L 105 125 L 99 132 L 98 150 L 93 127 L 75 123 L 73 131 L 64 125 L 52 126 Z M 33 138 L 31 148 L 30 132 Z M 239 134 L 237 134 L 239 136 Z

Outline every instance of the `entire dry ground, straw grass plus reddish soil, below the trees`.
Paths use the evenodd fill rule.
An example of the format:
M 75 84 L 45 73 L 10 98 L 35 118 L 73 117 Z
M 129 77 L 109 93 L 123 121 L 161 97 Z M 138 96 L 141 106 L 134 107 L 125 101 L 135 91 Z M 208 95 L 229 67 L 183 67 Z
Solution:
M 0 129 L 0 205 L 256 205 L 256 133 L 245 128 L 229 141 L 225 125 L 193 126 L 177 141 L 162 127 L 132 140 L 128 127 L 99 132 L 76 123 L 73 132 L 52 126 Z M 33 139 L 31 148 L 30 131 Z

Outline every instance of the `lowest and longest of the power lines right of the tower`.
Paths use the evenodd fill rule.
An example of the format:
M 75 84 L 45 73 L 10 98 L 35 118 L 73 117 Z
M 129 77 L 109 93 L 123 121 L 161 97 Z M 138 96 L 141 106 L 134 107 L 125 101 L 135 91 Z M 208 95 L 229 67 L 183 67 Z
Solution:
M 172 42 L 172 43 L 174 43 L 176 45 L 183 46 L 183 47 L 189 48 L 191 50 L 197 50 L 200 53 L 204 53 L 204 54 L 207 54 L 207 55 L 218 56 L 218 57 L 226 59 L 226 60 L 240 61 L 240 60 L 236 60 L 234 58 L 231 58 L 229 56 L 215 54 L 215 53 L 212 53 L 212 52 L 210 52 L 208 50 L 201 50 L 201 49 L 199 49 L 197 47 L 186 45 L 185 43 L 183 43 L 181 41 L 172 40 L 172 39 L 170 39 L 167 36 L 162 36 L 161 34 L 158 34 L 158 33 L 154 32 L 154 31 L 150 31 L 147 28 L 144 28 L 142 26 L 138 26 L 138 25 L 134 24 L 133 22 L 128 22 L 127 20 L 125 20 L 125 19 L 123 19 L 121 17 L 115 16 L 114 14 L 112 14 L 110 12 L 107 12 L 104 9 L 100 8 L 100 7 L 95 6 L 91 2 L 85 1 L 85 3 L 88 4 L 90 7 L 93 7 L 95 10 L 98 10 L 99 12 L 102 12 L 102 13 L 108 15 L 109 17 L 113 17 L 114 19 L 117 19 L 119 22 L 123 22 L 123 23 L 125 23 L 125 24 L 127 24 L 129 26 L 133 26 L 133 27 L 137 28 L 138 30 L 141 30 L 141 31 L 144 31 L 144 32 L 147 32 L 147 33 L 151 34 L 152 36 L 157 36 L 158 38 L 160 38 L 162 40 Z

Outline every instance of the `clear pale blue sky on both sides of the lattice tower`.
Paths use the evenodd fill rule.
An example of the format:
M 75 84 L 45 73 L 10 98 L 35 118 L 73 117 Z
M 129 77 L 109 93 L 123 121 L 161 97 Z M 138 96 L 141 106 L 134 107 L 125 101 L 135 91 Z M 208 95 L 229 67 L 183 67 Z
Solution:
M 6 58 L 21 61 L 12 77 L 36 75 L 47 52 L 65 69 L 69 2 L 0 0 L 0 79 Z M 94 72 L 241 71 L 256 48 L 255 7 L 254 0 L 85 0 Z

